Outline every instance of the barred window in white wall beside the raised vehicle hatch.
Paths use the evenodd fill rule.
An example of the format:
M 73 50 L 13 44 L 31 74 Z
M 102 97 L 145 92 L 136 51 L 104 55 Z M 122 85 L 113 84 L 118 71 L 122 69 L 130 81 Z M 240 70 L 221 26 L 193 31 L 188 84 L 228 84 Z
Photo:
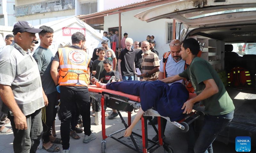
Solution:
M 184 28 L 184 25 L 180 22 L 175 24 L 175 38 L 180 39 L 180 31 Z M 170 44 L 172 41 L 172 22 L 166 22 L 166 44 Z

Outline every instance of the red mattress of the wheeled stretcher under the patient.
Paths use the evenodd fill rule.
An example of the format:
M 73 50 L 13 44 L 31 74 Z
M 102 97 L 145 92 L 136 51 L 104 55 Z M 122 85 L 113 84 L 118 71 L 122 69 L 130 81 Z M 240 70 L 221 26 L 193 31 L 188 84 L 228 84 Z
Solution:
M 88 89 L 89 89 L 89 92 L 102 93 L 102 91 L 104 91 L 104 92 L 108 92 L 108 93 L 112 93 L 112 94 L 127 97 L 132 101 L 140 102 L 140 97 L 139 96 L 129 95 L 129 94 L 126 94 L 126 93 L 123 93 L 123 92 L 120 92 L 120 91 L 98 88 L 96 85 L 89 85 Z M 195 93 L 189 93 L 189 98 L 188 99 L 191 99 L 191 98 L 194 98 L 194 97 L 196 97 Z

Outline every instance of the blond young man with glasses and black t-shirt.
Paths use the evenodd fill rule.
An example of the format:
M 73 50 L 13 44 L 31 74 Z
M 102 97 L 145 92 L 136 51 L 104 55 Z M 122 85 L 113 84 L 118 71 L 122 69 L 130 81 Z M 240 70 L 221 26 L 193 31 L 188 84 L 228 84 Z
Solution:
M 133 73 L 135 72 L 135 51 L 132 49 L 132 38 L 126 38 L 125 47 L 118 56 L 118 72 L 120 81 L 134 80 Z

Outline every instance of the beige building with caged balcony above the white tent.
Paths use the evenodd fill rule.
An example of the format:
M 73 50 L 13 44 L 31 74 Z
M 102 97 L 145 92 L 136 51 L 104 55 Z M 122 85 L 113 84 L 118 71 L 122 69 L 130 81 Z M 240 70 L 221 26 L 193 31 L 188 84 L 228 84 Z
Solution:
M 99 0 L 98 0 L 99 1 Z M 80 14 L 97 12 L 97 0 L 15 0 L 17 21 L 40 25 Z

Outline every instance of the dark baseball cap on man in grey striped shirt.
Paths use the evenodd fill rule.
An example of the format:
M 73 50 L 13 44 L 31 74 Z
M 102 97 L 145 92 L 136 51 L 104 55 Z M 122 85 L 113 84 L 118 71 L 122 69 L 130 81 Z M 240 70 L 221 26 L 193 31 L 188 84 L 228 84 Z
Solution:
M 13 26 L 13 35 L 16 35 L 17 33 L 40 33 L 43 29 L 37 29 L 34 28 L 33 25 L 29 24 L 27 21 L 19 21 Z

